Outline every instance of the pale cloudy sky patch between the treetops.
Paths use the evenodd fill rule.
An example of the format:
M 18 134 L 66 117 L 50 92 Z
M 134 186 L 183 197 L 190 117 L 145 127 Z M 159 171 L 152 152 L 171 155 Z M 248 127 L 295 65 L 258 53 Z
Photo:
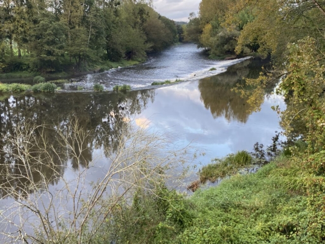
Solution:
M 198 13 L 201 0 L 153 0 L 155 10 L 175 21 L 188 22 L 189 13 Z

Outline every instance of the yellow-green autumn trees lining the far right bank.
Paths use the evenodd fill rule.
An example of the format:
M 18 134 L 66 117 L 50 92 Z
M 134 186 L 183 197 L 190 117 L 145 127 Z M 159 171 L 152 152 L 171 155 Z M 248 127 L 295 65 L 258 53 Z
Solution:
M 324 10 L 323 0 L 202 0 L 198 16 L 189 16 L 185 40 L 212 57 L 257 52 L 280 63 L 289 42 L 310 36 L 323 45 Z

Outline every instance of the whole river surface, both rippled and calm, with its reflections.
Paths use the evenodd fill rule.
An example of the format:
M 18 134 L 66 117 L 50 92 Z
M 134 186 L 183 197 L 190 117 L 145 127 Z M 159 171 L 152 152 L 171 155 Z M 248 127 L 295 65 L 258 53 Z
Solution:
M 109 156 L 105 148 L 114 148 L 121 125 L 129 121 L 148 130 L 176 135 L 173 142 L 180 147 L 191 144 L 200 148 L 201 154 L 193 162 L 198 165 L 238 150 L 252 151 L 256 142 L 269 145 L 275 131 L 281 130 L 271 106 L 284 108 L 282 97 L 267 95 L 261 111 L 251 113 L 247 101 L 231 90 L 244 77 L 257 77 L 262 65 L 262 60 L 253 58 L 210 60 L 195 45 L 183 44 L 151 56 L 145 64 L 76 78 L 74 83 L 63 86 L 64 93 L 3 96 L 0 98 L 0 184 L 23 189 L 24 195 L 28 194 L 30 180 L 15 177 L 24 169 L 14 166 L 15 145 L 8 140 L 21 123 L 47 125 L 36 138 L 45 136 L 60 152 L 52 161 L 57 162 L 57 168 L 65 167 L 39 170 L 42 175 L 32 173 L 35 181 L 47 178 L 53 192 L 62 186 L 61 178 L 73 178 L 99 155 L 98 163 L 105 165 L 105 157 Z M 209 71 L 210 68 L 216 70 Z M 162 87 L 150 85 L 153 81 L 176 78 L 183 82 Z M 103 84 L 106 90 L 115 84 L 129 84 L 135 90 L 94 93 L 90 92 L 94 83 Z M 85 87 L 84 92 L 69 92 L 80 85 Z M 56 136 L 57 128 L 65 128 L 73 117 L 78 118 L 88 133 L 81 143 L 83 149 L 79 150 L 81 161 L 74 160 L 65 142 Z M 8 165 L 11 165 L 9 171 Z M 93 170 L 87 182 L 102 175 L 103 171 Z M 190 179 L 194 178 L 195 172 Z M 6 194 L 0 188 L 0 211 L 14 201 Z

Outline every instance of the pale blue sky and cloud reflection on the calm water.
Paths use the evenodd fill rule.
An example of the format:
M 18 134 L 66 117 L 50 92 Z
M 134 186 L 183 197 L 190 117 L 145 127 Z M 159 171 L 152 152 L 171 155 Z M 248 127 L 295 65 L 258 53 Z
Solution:
M 157 89 L 154 103 L 137 119 L 149 120 L 152 128 L 176 132 L 184 145 L 192 142 L 204 148 L 207 155 L 200 160 L 207 163 L 213 157 L 238 150 L 252 151 L 256 142 L 271 144 L 275 131 L 280 131 L 278 116 L 271 109 L 273 105 L 285 106 L 280 97 L 271 96 L 260 112 L 248 116 L 246 123 L 228 121 L 223 116 L 213 118 L 200 100 L 198 82 L 193 81 Z

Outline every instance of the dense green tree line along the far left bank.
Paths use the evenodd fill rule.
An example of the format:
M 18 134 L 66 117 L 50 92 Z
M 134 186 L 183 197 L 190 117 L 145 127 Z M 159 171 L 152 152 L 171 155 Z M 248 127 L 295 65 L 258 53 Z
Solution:
M 178 42 L 181 31 L 142 0 L 1 0 L 0 73 L 144 59 Z

